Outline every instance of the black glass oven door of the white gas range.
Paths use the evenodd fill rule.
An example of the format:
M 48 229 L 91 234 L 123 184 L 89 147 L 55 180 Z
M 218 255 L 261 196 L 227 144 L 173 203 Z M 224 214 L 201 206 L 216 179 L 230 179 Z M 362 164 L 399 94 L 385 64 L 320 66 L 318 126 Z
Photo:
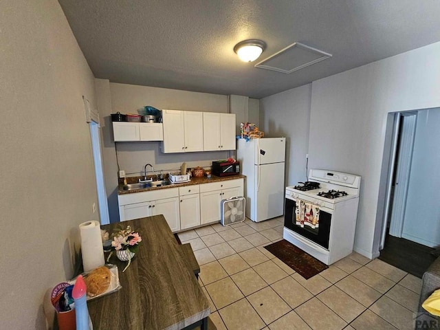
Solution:
M 331 225 L 331 210 L 329 208 L 322 208 L 316 204 L 313 204 L 314 208 L 319 208 L 319 226 L 312 228 L 309 225 L 297 225 L 296 224 L 296 204 L 301 205 L 300 199 L 286 198 L 285 203 L 285 217 L 284 226 L 290 230 L 300 234 L 301 236 L 315 242 L 329 250 L 330 240 L 330 225 Z M 306 202 L 308 203 L 308 202 Z

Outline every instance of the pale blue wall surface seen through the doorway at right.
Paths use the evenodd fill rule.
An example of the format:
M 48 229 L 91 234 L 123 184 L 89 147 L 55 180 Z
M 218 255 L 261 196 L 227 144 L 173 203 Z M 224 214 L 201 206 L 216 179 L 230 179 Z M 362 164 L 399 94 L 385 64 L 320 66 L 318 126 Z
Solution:
M 418 111 L 402 236 L 432 248 L 440 245 L 439 142 L 440 109 Z

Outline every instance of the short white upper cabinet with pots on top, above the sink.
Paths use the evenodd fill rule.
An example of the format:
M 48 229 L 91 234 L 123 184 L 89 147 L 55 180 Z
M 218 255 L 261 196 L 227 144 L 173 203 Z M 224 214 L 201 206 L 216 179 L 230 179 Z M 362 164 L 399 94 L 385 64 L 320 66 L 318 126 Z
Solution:
M 163 141 L 162 123 L 113 122 L 113 138 L 119 141 Z

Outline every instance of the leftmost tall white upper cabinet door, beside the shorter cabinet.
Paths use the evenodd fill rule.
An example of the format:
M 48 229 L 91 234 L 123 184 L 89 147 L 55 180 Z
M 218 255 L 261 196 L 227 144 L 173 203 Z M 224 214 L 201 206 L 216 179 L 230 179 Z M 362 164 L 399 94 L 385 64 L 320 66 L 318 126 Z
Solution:
M 162 153 L 183 153 L 185 151 L 184 111 L 162 111 L 164 142 Z

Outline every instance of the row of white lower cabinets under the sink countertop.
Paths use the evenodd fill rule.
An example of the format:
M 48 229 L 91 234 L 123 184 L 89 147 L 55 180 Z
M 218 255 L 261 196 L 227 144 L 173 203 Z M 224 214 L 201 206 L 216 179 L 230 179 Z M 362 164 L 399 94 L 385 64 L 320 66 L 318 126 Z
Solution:
M 220 221 L 222 199 L 243 196 L 243 179 L 118 196 L 120 221 L 164 214 L 171 231 Z

